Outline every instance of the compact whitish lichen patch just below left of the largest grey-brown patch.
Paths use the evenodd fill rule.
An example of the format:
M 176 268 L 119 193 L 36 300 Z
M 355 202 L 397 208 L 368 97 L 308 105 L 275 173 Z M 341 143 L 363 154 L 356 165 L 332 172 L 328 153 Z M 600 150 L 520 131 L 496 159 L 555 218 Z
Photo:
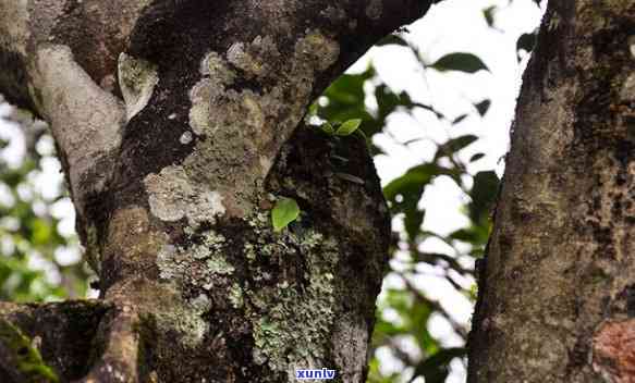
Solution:
M 182 166 L 167 166 L 144 178 L 152 214 L 163 221 L 183 218 L 192 226 L 213 222 L 225 212 L 222 196 L 190 180 Z

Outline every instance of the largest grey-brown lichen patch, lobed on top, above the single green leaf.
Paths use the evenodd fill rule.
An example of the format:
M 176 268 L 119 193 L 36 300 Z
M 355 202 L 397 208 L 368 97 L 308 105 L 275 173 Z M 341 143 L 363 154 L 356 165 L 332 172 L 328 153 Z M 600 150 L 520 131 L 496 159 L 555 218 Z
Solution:
M 282 58 L 272 37 L 257 36 L 233 44 L 227 59 L 210 52 L 202 60 L 202 78 L 190 90 L 197 141 L 183 168 L 197 182 L 215 185 L 232 217 L 253 211 L 252 197 L 305 114 L 316 74 L 339 54 L 337 41 L 307 30 L 291 58 Z M 232 67 L 267 86 L 229 88 L 236 77 Z

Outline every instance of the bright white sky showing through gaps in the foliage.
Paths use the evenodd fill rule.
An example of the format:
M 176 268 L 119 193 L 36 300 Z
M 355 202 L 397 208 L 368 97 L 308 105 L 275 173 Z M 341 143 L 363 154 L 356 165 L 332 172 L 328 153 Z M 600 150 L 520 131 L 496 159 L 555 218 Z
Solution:
M 494 13 L 496 29 L 487 25 L 483 15 L 483 10 L 490 5 L 499 5 Z M 534 30 L 540 16 L 540 10 L 532 0 L 514 0 L 512 3 L 509 0 L 447 0 L 432 5 L 426 17 L 413 24 L 408 28 L 410 33 L 403 36 L 419 48 L 429 63 L 445 53 L 472 52 L 486 63 L 491 73 L 481 71 L 473 75 L 441 74 L 433 70 L 424 73 L 412 52 L 401 47 L 374 48 L 353 65 L 351 72 L 361 72 L 366 69 L 369 61 L 373 61 L 378 75 L 394 91 L 406 90 L 414 100 L 432 104 L 450 118 L 469 111 L 473 102 L 486 98 L 492 101 L 484 119 L 473 116 L 454 126 L 442 126 L 426 112 L 417 113 L 416 120 L 405 113 L 392 115 L 388 124 L 388 132 L 392 137 L 384 134 L 376 137 L 376 144 L 389 153 L 376 157 L 377 170 L 383 185 L 411 166 L 430 160 L 436 150 L 432 143 L 443 143 L 450 137 L 465 134 L 476 134 L 481 139 L 464 150 L 462 155 L 464 160 L 476 152 L 486 153 L 484 159 L 469 164 L 468 171 L 475 174 L 481 170 L 496 169 L 499 175 L 502 174 L 504 164 L 501 158 L 509 147 L 509 128 L 525 64 L 517 63 L 516 40 L 523 33 Z M 7 104 L 0 104 L 0 115 L 8 112 L 7 108 Z M 9 150 L 5 150 L 5 159 L 10 163 L 20 163 L 24 156 L 24 141 L 19 127 L 2 123 L 0 120 L 0 138 L 11 139 Z M 424 140 L 407 148 L 399 144 L 415 138 Z M 399 143 L 395 143 L 395 139 Z M 52 151 L 52 143 L 40 146 L 38 150 L 41 152 Z M 51 157 L 46 160 L 44 172 L 30 180 L 45 198 L 47 195 L 57 195 L 62 183 L 59 169 L 59 163 Z M 7 203 L 5 198 L 7 193 L 0 188 L 0 203 Z M 451 181 L 444 177 L 437 178 L 433 186 L 426 190 L 420 202 L 426 209 L 424 228 L 448 234 L 464 226 L 467 221 L 459 208 L 466 198 Z M 57 218 L 64 218 L 60 227 L 62 233 L 73 233 L 74 212 L 70 201 L 56 203 L 52 213 Z M 0 221 L 2 219 L 0 218 Z M 430 240 L 425 246 L 426 250 L 433 251 L 444 245 Z M 77 256 L 73 250 L 59 255 L 61 263 L 76 260 Z M 426 276 L 416 281 L 416 284 L 429 298 L 441 301 L 459 323 L 469 322 L 472 305 L 443 279 Z M 442 339 L 443 344 L 461 345 L 444 320 L 440 318 L 431 320 L 431 332 Z M 461 363 L 453 367 L 455 368 L 448 382 L 464 382 L 465 372 Z M 386 363 L 386 372 L 399 368 L 398 365 Z

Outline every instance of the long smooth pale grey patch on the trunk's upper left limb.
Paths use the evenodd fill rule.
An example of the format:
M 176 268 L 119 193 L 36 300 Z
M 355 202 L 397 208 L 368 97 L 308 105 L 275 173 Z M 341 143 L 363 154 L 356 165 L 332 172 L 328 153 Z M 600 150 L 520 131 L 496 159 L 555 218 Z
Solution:
M 69 161 L 76 207 L 83 209 L 84 196 L 102 190 L 112 172 L 107 159 L 121 144 L 125 109 L 75 62 L 66 46 L 38 49 L 33 86 L 39 91 L 34 99 Z

